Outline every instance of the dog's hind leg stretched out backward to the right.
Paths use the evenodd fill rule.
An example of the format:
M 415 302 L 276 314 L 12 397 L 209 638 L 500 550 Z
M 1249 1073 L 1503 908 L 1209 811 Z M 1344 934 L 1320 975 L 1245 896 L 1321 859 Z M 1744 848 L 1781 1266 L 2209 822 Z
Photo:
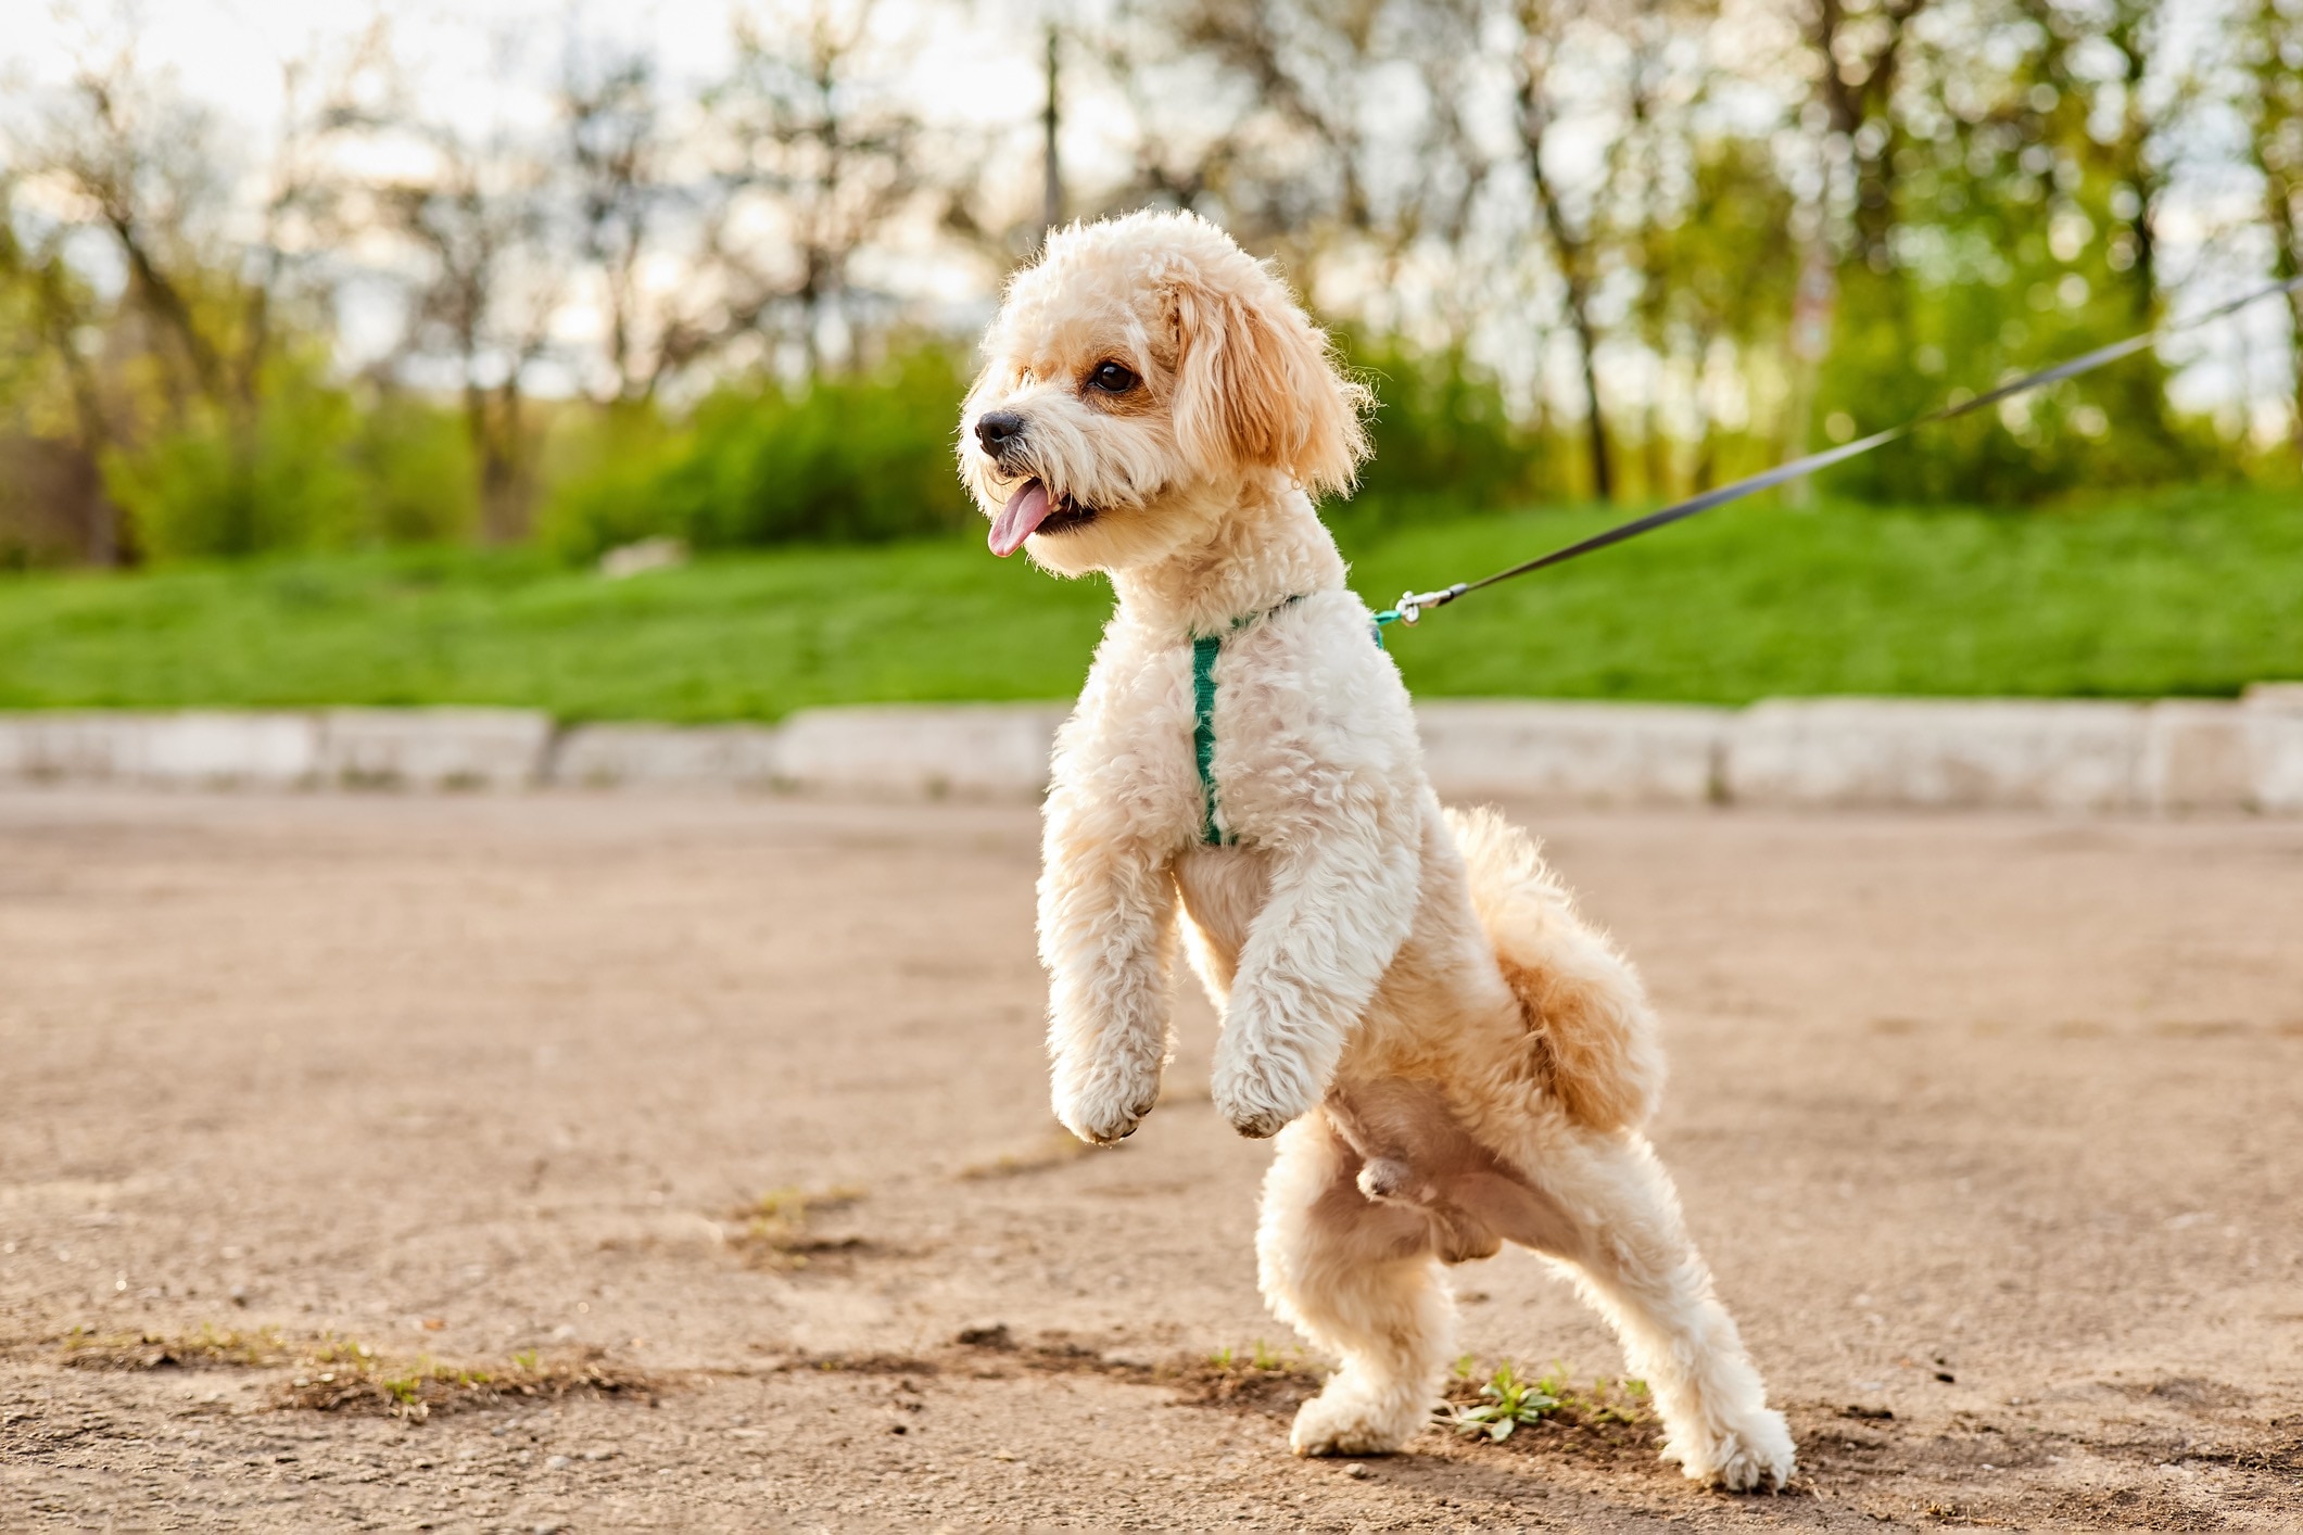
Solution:
M 1559 1261 L 1614 1326 L 1626 1365 L 1656 1395 L 1663 1459 L 1730 1491 L 1787 1484 L 1792 1431 L 1766 1406 L 1759 1369 L 1711 1289 L 1672 1181 L 1647 1141 L 1578 1137 L 1573 1151 L 1543 1162 L 1541 1185 L 1578 1231 L 1566 1243 L 1531 1245 Z

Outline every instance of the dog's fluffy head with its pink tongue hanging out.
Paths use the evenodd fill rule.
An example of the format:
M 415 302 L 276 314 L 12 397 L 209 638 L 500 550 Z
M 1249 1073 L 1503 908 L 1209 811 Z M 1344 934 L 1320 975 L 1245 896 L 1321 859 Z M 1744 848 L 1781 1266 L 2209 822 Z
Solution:
M 1009 283 L 960 417 L 990 548 L 1064 575 L 1207 541 L 1248 479 L 1345 490 L 1366 389 L 1278 276 L 1198 214 L 1073 226 Z

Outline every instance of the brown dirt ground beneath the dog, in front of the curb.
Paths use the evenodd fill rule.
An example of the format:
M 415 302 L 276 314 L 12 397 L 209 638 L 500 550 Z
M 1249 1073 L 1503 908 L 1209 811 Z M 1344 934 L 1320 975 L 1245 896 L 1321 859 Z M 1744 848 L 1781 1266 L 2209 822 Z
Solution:
M 1050 1137 L 1029 808 L 21 789 L 0 1528 L 2303 1528 L 2303 824 L 1522 815 L 1787 1496 L 1292 1459 L 1207 1006 Z M 1621 1369 L 1455 1280 L 1474 1374 Z

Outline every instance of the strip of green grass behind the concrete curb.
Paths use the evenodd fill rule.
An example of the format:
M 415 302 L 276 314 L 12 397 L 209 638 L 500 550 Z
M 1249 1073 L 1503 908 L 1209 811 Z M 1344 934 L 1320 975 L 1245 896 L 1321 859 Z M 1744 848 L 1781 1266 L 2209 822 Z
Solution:
M 1356 520 L 1370 605 L 1605 525 Z M 410 550 L 0 578 L 0 709 L 527 704 L 732 720 L 884 700 L 1066 697 L 1110 594 L 979 539 L 721 555 L 606 582 Z M 2303 677 L 2303 497 L 2038 511 L 1746 504 L 1391 631 L 1421 695 L 2229 695 Z

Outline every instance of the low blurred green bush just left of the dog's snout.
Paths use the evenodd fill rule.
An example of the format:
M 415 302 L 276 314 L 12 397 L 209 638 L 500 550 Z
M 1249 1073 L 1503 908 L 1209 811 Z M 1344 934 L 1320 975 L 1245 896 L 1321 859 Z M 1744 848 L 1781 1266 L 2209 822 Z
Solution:
M 668 534 L 696 548 L 884 543 L 963 527 L 953 469 L 967 389 L 944 348 L 785 391 L 728 387 L 670 428 L 606 414 L 546 499 L 539 536 L 567 557 Z

